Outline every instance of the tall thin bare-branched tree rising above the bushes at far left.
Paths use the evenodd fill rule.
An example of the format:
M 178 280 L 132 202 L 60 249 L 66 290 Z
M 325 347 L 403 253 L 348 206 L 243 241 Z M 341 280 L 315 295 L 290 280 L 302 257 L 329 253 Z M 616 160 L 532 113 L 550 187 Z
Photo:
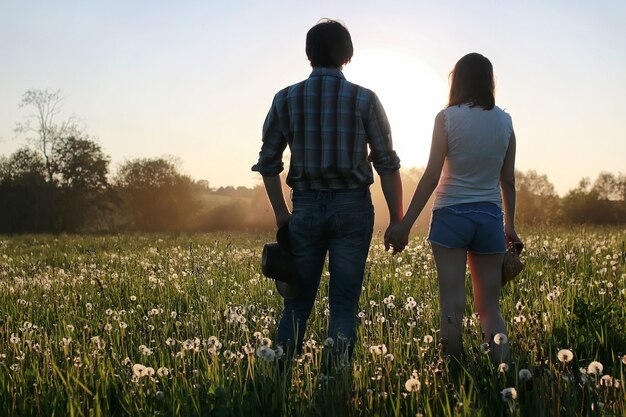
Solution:
M 15 133 L 28 135 L 35 149 L 41 152 L 48 182 L 52 182 L 55 173 L 54 153 L 60 140 L 65 136 L 80 133 L 73 117 L 57 123 L 56 116 L 61 112 L 64 97 L 61 90 L 27 90 L 22 95 L 20 108 L 34 108 L 35 112 L 15 126 Z

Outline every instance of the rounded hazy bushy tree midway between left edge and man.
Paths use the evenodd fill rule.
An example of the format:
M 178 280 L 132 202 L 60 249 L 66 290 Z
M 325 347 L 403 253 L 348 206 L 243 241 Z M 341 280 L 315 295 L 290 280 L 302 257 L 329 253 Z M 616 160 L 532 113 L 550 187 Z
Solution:
M 119 168 L 114 184 L 133 230 L 184 230 L 198 210 L 193 181 L 165 158 L 126 162 Z

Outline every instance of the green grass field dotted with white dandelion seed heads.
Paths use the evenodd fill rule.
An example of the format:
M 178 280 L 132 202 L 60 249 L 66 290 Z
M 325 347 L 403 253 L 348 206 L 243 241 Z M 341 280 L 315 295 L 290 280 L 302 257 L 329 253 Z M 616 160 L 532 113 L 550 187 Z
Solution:
M 355 357 L 333 375 L 324 286 L 305 353 L 279 372 L 269 235 L 0 237 L 0 413 L 625 416 L 626 231 L 523 232 L 526 269 L 502 297 L 508 369 L 471 297 L 463 368 L 442 361 L 427 243 L 391 257 L 378 236 Z

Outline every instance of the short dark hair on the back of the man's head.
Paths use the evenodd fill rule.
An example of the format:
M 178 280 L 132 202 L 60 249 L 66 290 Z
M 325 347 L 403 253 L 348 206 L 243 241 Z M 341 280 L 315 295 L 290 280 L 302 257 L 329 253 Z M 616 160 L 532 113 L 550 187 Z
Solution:
M 353 53 L 350 32 L 335 20 L 322 19 L 306 34 L 306 56 L 312 67 L 341 68 Z

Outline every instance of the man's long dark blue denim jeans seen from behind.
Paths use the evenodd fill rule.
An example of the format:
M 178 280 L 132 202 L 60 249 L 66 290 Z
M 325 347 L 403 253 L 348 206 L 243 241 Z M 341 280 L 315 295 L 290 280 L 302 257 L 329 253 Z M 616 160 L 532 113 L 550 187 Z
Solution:
M 347 347 L 351 355 L 365 262 L 374 228 L 370 191 L 294 190 L 292 201 L 289 239 L 302 283 L 298 296 L 285 300 L 278 325 L 278 342 L 287 351 L 301 352 L 328 253 L 328 335 L 335 341 L 336 351 Z

